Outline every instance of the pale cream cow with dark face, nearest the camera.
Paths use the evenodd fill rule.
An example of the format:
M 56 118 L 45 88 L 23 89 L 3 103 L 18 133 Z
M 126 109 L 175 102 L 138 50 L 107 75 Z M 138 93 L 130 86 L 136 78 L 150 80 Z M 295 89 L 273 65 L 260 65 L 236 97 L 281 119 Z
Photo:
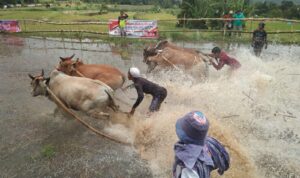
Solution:
M 104 111 L 107 106 L 113 110 L 117 108 L 112 97 L 113 90 L 100 81 L 68 76 L 57 70 L 53 70 L 49 78 L 44 77 L 44 71 L 39 76 L 28 75 L 32 79 L 32 96 L 49 96 L 46 89 L 48 86 L 67 107 L 74 110 L 109 116 L 100 111 Z

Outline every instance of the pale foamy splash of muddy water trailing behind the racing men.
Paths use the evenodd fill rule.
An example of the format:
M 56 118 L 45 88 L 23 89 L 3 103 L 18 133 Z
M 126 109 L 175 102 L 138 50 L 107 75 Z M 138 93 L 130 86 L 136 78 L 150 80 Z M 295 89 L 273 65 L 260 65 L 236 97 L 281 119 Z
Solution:
M 136 145 L 154 175 L 170 175 L 175 122 L 192 110 L 208 116 L 209 134 L 230 151 L 232 165 L 223 177 L 300 175 L 299 47 L 271 46 L 261 58 L 246 47 L 234 48 L 229 55 L 242 64 L 232 77 L 228 68 L 216 71 L 211 66 L 209 80 L 203 83 L 180 71 L 147 76 L 168 90 L 159 112 L 143 117 L 149 98 L 134 118 Z

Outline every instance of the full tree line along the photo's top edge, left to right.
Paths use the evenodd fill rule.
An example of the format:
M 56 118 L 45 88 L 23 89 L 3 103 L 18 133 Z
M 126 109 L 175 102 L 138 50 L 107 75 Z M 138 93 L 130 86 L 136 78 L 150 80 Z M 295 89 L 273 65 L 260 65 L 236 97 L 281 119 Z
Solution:
M 5 4 L 59 3 L 59 0 L 0 0 Z M 221 17 L 229 10 L 243 10 L 247 17 L 283 17 L 300 19 L 300 5 L 284 0 L 281 4 L 271 2 L 250 3 L 250 0 L 64 0 L 63 2 L 86 2 L 101 4 L 156 5 L 161 8 L 180 8 L 179 18 Z M 197 23 L 197 22 L 195 22 Z

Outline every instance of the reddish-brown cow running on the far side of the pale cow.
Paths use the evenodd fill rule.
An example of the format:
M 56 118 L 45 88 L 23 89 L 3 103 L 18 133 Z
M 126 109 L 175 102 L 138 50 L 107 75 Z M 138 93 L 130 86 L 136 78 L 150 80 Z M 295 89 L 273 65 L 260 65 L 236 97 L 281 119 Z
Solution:
M 71 76 L 87 77 L 95 80 L 100 80 L 116 90 L 121 88 L 125 82 L 125 75 L 117 68 L 105 64 L 84 64 L 77 59 L 73 61 L 70 57 L 60 57 L 61 61 L 57 70 Z

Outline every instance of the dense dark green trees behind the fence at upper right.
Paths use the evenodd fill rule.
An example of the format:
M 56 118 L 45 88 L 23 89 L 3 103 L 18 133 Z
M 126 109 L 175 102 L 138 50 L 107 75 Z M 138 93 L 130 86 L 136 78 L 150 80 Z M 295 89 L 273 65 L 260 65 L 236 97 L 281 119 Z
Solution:
M 229 11 L 241 10 L 246 17 L 281 17 L 287 19 L 300 19 L 300 5 L 292 1 L 282 1 L 281 4 L 257 2 L 251 4 L 249 0 L 183 0 L 180 4 L 178 18 L 205 18 L 223 17 Z M 211 21 L 210 26 L 218 25 Z M 206 21 L 180 20 L 177 24 L 187 28 L 208 28 Z

